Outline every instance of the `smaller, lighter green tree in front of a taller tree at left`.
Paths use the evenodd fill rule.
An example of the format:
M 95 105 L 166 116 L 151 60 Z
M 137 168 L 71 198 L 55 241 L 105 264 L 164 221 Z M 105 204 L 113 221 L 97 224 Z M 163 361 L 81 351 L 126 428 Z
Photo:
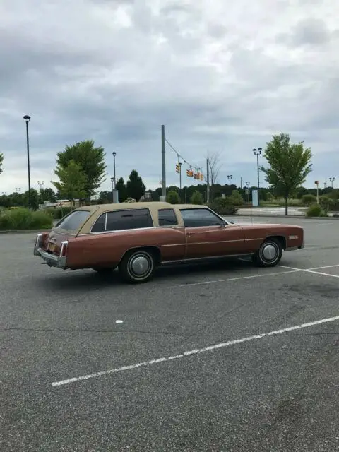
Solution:
M 87 177 L 81 165 L 74 160 L 69 162 L 66 168 L 56 170 L 59 182 L 52 182 L 57 188 L 61 197 L 74 201 L 74 199 L 84 198 L 86 195 Z

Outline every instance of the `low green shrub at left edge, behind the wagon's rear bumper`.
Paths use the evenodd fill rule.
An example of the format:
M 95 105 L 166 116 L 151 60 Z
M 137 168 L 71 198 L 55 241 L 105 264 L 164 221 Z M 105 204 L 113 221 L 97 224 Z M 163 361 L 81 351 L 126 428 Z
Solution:
M 18 208 L 0 214 L 0 230 L 2 231 L 49 229 L 52 225 L 52 215 L 42 210 L 34 212 L 30 209 Z

